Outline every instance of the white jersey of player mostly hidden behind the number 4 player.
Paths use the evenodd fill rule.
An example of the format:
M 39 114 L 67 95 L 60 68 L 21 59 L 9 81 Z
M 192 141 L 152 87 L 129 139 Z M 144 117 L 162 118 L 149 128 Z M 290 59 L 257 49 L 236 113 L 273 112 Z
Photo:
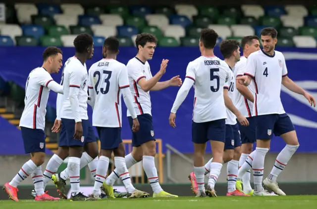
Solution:
M 237 78 L 239 76 L 243 76 L 243 74 L 246 71 L 246 67 L 247 67 L 247 58 L 241 57 L 240 61 L 237 62 L 234 67 L 234 70 L 233 70 L 234 77 Z M 253 81 L 251 81 L 250 85 L 248 85 L 248 88 L 252 92 L 252 94 L 255 93 L 255 86 Z M 252 117 L 253 102 L 247 100 L 238 90 L 236 90 L 235 106 L 239 110 L 239 112 L 246 118 Z

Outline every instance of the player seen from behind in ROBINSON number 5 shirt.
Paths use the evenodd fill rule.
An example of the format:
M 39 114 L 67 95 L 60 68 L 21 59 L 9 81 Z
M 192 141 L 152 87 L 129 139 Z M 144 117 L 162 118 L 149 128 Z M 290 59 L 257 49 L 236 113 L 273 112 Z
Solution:
M 217 38 L 218 34 L 214 30 L 201 31 L 199 48 L 202 55 L 188 64 L 184 84 L 177 93 L 169 116 L 169 124 L 176 127 L 176 111 L 194 85 L 192 141 L 194 143 L 194 170 L 199 187 L 197 197 L 206 197 L 206 195 L 216 197 L 214 184 L 222 167 L 225 119 L 227 118 L 223 87 L 231 76 L 231 70 L 227 63 L 213 54 Z M 209 140 L 213 159 L 205 191 L 204 155 Z

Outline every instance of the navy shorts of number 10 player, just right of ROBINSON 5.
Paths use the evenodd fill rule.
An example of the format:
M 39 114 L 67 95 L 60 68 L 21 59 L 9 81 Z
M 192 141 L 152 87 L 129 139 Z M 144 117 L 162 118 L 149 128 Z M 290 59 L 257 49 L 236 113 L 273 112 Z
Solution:
M 226 125 L 226 141 L 224 143 L 225 150 L 233 150 L 241 146 L 241 139 L 239 133 L 239 125 Z

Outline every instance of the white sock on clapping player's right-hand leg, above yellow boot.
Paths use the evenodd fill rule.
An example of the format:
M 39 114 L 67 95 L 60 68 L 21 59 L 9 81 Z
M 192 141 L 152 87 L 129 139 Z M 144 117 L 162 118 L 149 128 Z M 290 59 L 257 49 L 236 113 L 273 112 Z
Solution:
M 158 194 L 163 191 L 159 185 L 159 176 L 157 168 L 155 167 L 154 157 L 143 156 L 143 169 L 147 174 L 154 194 Z

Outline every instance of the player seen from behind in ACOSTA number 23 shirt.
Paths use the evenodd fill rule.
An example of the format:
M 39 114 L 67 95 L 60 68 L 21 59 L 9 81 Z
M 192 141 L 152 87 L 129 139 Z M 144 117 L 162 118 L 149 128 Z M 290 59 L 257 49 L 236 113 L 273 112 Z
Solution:
M 140 128 L 135 113 L 131 90 L 129 88 L 128 72 L 126 66 L 116 61 L 119 53 L 119 41 L 109 37 L 104 42 L 104 59 L 96 62 L 89 69 L 88 88 L 93 111 L 93 125 L 96 126 L 101 142 L 100 158 L 93 194 L 99 198 L 100 188 L 106 179 L 111 153 L 114 154 L 114 166 L 120 176 L 127 192 L 128 198 L 148 197 L 146 192 L 135 189 L 131 183 L 130 174 L 125 164 L 125 149 L 121 139 L 121 95 L 133 119 L 132 131 Z M 105 108 L 107 107 L 107 108 Z M 107 196 L 112 196 L 107 194 Z

